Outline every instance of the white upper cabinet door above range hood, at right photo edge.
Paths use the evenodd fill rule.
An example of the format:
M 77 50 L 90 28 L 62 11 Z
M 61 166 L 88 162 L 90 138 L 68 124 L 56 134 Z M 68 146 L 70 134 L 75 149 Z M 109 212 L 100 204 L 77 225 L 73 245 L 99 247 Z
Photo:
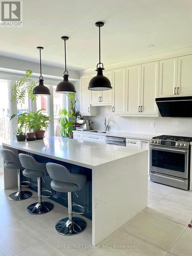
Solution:
M 178 96 L 192 96 L 192 55 L 178 58 Z

